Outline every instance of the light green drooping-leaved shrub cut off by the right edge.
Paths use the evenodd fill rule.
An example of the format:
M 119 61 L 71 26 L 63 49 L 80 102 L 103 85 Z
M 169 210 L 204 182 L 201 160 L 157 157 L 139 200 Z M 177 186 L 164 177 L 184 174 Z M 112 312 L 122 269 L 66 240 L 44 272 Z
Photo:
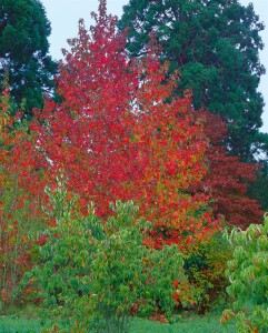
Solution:
M 264 225 L 251 224 L 246 231 L 232 230 L 227 238 L 234 246 L 234 259 L 228 262 L 227 287 L 234 300 L 221 322 L 237 321 L 238 332 L 268 331 L 268 216 Z

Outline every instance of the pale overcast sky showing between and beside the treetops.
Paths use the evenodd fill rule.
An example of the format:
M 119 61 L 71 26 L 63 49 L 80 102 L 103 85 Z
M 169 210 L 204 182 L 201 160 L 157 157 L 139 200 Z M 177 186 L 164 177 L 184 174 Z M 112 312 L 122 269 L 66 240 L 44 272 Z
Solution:
M 261 63 L 267 68 L 267 74 L 262 77 L 259 90 L 265 97 L 265 112 L 262 114 L 264 127 L 262 131 L 268 132 L 268 0 L 240 0 L 240 3 L 246 6 L 249 2 L 254 3 L 255 12 L 259 16 L 260 21 L 266 24 L 266 30 L 261 33 L 265 42 L 265 50 L 260 53 Z M 50 53 L 59 60 L 62 58 L 61 49 L 67 48 L 67 39 L 77 37 L 78 20 L 85 19 L 87 28 L 92 23 L 90 12 L 97 11 L 98 0 L 41 0 L 43 3 L 47 17 L 51 22 L 52 33 L 49 38 Z M 122 6 L 127 4 L 128 0 L 107 0 L 108 12 L 117 14 L 122 13 Z

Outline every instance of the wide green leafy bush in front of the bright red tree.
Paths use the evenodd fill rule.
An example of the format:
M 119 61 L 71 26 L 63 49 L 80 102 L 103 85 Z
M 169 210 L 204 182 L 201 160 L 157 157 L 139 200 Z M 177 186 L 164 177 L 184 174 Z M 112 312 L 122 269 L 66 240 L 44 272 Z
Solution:
M 42 264 L 26 275 L 27 283 L 40 286 L 44 306 L 70 319 L 78 332 L 127 332 L 131 315 L 156 311 L 171 321 L 173 292 L 183 293 L 187 284 L 178 248 L 147 248 L 151 225 L 136 218 L 132 202 L 112 205 L 106 223 L 92 208 L 87 216 L 75 216 L 75 201 L 67 201 L 59 185 L 48 191 L 56 223 L 40 246 Z

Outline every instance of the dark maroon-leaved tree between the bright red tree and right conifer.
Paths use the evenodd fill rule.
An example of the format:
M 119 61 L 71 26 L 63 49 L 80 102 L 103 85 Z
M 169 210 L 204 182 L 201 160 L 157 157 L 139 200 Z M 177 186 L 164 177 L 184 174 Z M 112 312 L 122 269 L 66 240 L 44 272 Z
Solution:
M 248 184 L 256 180 L 259 165 L 228 155 L 224 144 L 228 134 L 227 124 L 208 111 L 199 111 L 200 115 L 209 139 L 206 151 L 208 172 L 193 186 L 193 193 L 208 194 L 212 199 L 215 215 L 225 215 L 228 224 L 246 229 L 250 223 L 260 223 L 264 212 L 256 200 L 247 196 Z

